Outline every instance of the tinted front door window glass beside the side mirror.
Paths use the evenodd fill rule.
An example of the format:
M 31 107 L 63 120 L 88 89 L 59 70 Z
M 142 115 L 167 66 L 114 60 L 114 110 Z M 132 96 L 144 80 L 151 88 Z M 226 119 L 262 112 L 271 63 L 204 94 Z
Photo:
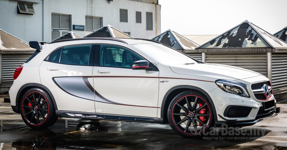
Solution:
M 132 68 L 134 61 L 144 60 L 126 48 L 114 45 L 100 45 L 100 65 Z

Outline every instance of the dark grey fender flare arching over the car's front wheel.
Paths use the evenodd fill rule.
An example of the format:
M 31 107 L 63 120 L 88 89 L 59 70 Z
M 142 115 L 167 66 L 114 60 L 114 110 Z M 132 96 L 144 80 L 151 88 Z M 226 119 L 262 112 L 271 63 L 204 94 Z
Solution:
M 208 94 L 207 92 L 205 92 L 203 89 L 201 89 L 201 88 L 199 88 L 199 87 L 196 87 L 196 86 L 191 86 L 191 85 L 178 85 L 178 86 L 174 86 L 174 87 L 170 88 L 170 89 L 167 91 L 167 93 L 164 95 L 164 99 L 162 100 L 162 103 L 161 103 L 161 118 L 164 117 L 164 105 L 165 105 L 165 103 L 166 103 L 167 96 L 168 96 L 173 90 L 175 90 L 175 89 L 182 89 L 182 88 L 185 88 L 185 89 L 194 89 L 194 90 L 197 90 L 197 91 L 203 93 L 203 94 L 207 97 L 209 103 L 211 104 L 211 108 L 212 108 L 212 111 L 213 111 L 213 114 L 214 114 L 214 115 L 213 115 L 214 120 L 217 120 L 216 109 L 215 109 L 214 103 L 213 103 L 211 97 L 209 96 L 209 94 Z

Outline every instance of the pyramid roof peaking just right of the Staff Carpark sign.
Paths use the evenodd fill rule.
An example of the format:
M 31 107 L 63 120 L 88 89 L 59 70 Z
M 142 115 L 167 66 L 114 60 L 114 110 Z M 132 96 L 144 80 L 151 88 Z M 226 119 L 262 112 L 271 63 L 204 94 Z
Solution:
M 93 33 L 85 36 L 84 38 L 132 38 L 132 37 L 107 24 L 101 27 L 100 29 L 94 31 Z

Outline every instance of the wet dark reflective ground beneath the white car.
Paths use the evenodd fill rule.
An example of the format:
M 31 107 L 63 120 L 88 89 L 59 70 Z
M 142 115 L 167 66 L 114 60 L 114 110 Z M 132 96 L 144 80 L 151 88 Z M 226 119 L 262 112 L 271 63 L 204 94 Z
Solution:
M 276 117 L 253 126 L 235 131 L 234 128 L 217 128 L 210 132 L 216 136 L 186 139 L 175 134 L 169 125 L 98 121 L 66 128 L 65 118 L 47 130 L 36 131 L 26 126 L 21 115 L 12 111 L 10 103 L 4 103 L 5 96 L 8 97 L 0 95 L 0 150 L 287 149 L 287 103 L 277 104 L 281 112 Z M 72 120 L 69 124 L 77 126 Z

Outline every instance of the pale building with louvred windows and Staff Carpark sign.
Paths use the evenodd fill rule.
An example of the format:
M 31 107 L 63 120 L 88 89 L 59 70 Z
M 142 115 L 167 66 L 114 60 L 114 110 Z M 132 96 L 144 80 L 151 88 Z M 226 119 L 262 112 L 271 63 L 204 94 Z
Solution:
M 24 41 L 82 37 L 110 24 L 134 38 L 161 33 L 158 0 L 0 0 L 0 28 Z M 5 15 L 3 15 L 5 14 Z

